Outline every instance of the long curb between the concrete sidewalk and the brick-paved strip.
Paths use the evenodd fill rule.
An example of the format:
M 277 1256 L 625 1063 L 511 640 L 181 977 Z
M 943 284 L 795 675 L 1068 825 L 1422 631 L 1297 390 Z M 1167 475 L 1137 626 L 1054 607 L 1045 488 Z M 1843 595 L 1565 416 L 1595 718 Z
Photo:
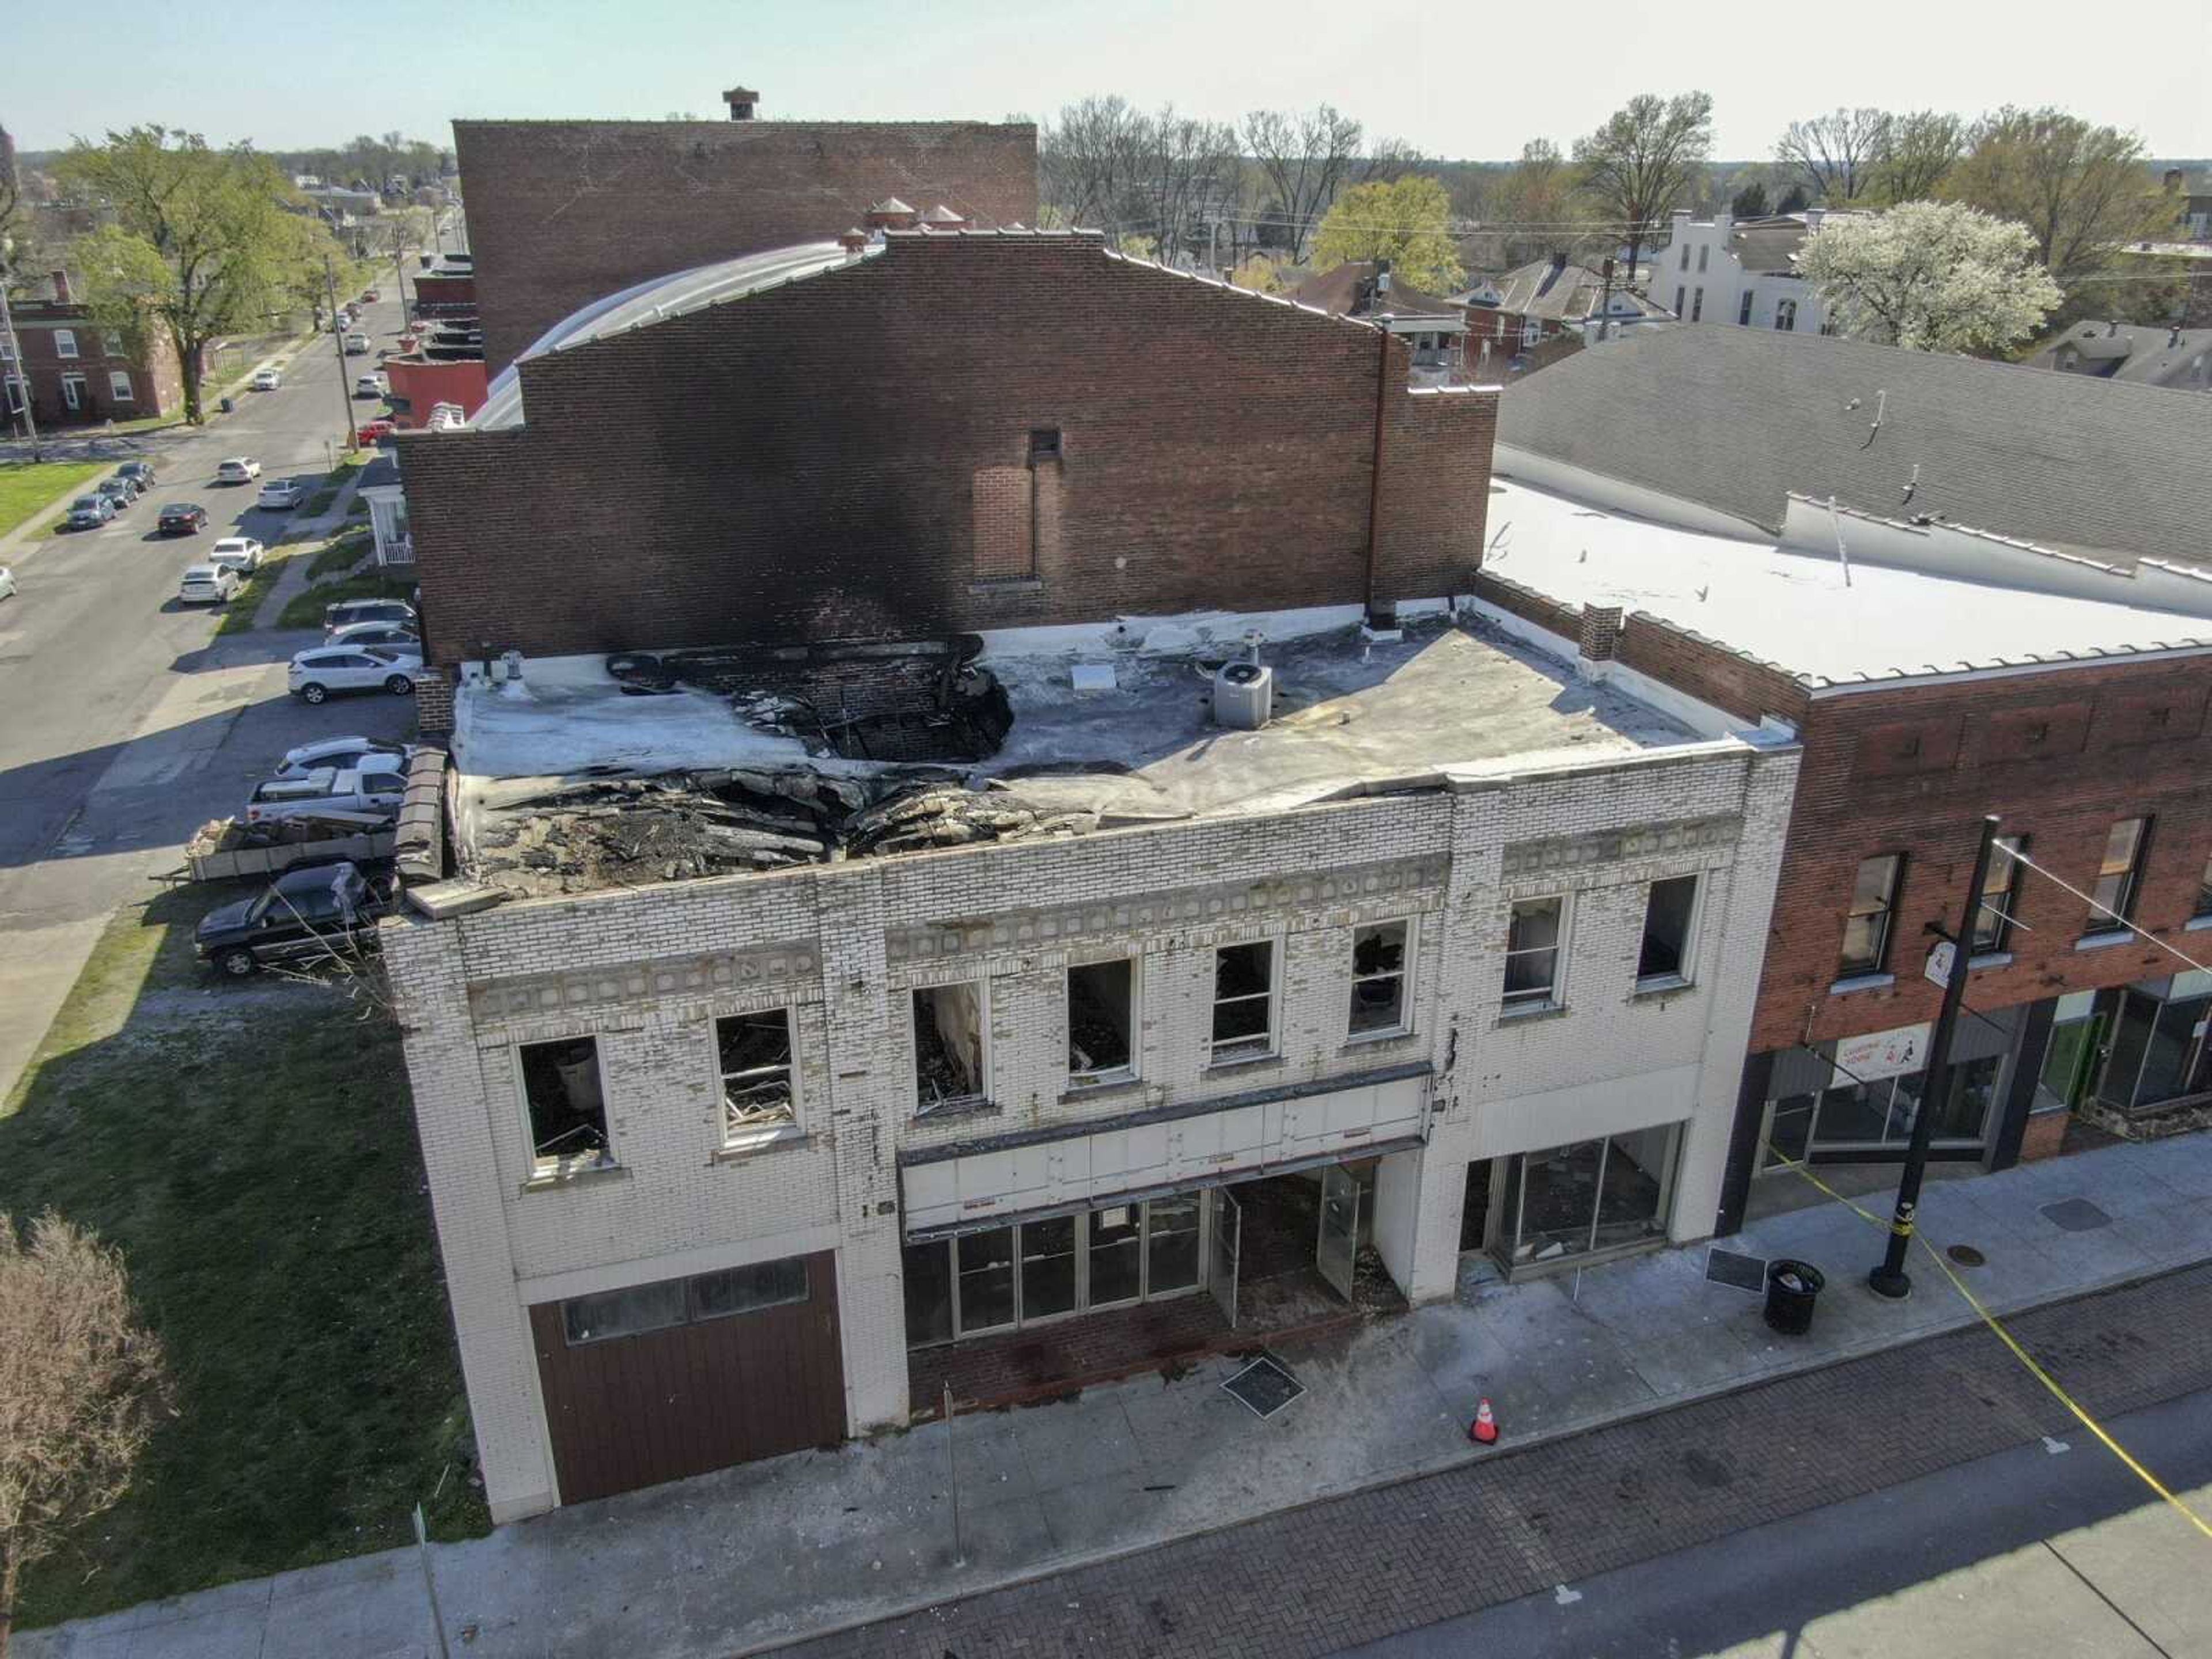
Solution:
M 2064 1307 L 2066 1303 L 2086 1301 L 2088 1296 L 2108 1296 L 2115 1290 L 2128 1290 L 2132 1285 L 2148 1285 L 2159 1279 L 2172 1279 L 2174 1274 L 2197 1272 L 2199 1267 L 2212 1265 L 2212 1256 L 2199 1256 L 2197 1261 L 2174 1263 L 2170 1267 L 2154 1267 L 2150 1272 L 2119 1272 L 2099 1279 L 2088 1285 L 2075 1285 L 2070 1290 L 2053 1292 L 2046 1296 L 2026 1296 L 2015 1303 L 1989 1303 L 1989 1312 L 2002 1318 L 2017 1314 L 2042 1312 L 2044 1307 Z M 1022 1568 L 1009 1573 L 991 1584 L 962 1586 L 953 1595 L 933 1595 L 900 1601 L 880 1613 L 869 1613 L 863 1617 L 838 1619 L 836 1624 L 823 1624 L 812 1630 L 799 1630 L 774 1641 L 754 1641 L 739 1648 L 730 1648 L 730 1659 L 752 1659 L 752 1655 L 781 1652 L 783 1648 L 799 1646 L 801 1641 L 821 1641 L 825 1637 L 849 1635 L 854 1630 L 867 1630 L 869 1626 L 891 1624 L 894 1619 L 911 1619 L 918 1613 L 929 1613 L 933 1608 L 958 1606 L 960 1601 L 973 1601 L 982 1595 L 998 1595 L 1000 1590 L 1018 1590 L 1024 1584 L 1037 1584 L 1042 1579 L 1053 1579 L 1064 1573 L 1079 1573 L 1091 1566 L 1106 1566 L 1108 1562 L 1121 1562 L 1130 1555 L 1144 1555 L 1146 1551 L 1164 1548 L 1168 1544 L 1181 1544 L 1192 1537 L 1212 1537 L 1217 1533 L 1232 1533 L 1239 1526 L 1250 1526 L 1252 1522 L 1270 1520 L 1274 1515 L 1296 1515 L 1303 1509 L 1314 1509 L 1318 1504 L 1336 1502 L 1340 1498 L 1356 1498 L 1360 1493 L 1385 1491 L 1389 1486 L 1405 1486 L 1416 1480 L 1427 1480 L 1429 1475 L 1451 1473 L 1453 1469 L 1467 1469 L 1478 1462 L 1498 1462 L 1500 1458 L 1513 1458 L 1524 1451 L 1535 1451 L 1537 1447 L 1548 1447 L 1559 1440 L 1573 1440 L 1584 1433 L 1595 1433 L 1597 1429 L 1617 1429 L 1630 1422 L 1644 1422 L 1646 1418 L 1666 1416 L 1686 1405 L 1703 1405 L 1705 1400 L 1725 1400 L 1732 1394 L 1747 1394 L 1750 1389 L 1765 1387 L 1770 1383 L 1785 1383 L 1794 1376 L 1807 1376 L 1812 1371 L 1825 1371 L 1836 1365 L 1851 1365 L 1854 1360 L 1871 1358 L 1876 1354 L 1889 1354 L 1900 1347 L 1918 1347 L 1920 1343 L 1933 1343 L 1944 1336 L 1958 1336 L 1962 1329 L 1980 1327 L 1982 1318 L 1969 1307 L 1964 1318 L 1938 1325 L 1933 1329 L 1916 1332 L 1893 1343 L 1858 1343 L 1836 1354 L 1825 1354 L 1816 1360 L 1805 1360 L 1798 1365 L 1778 1365 L 1772 1371 L 1761 1371 L 1756 1376 L 1743 1376 L 1728 1383 L 1712 1383 L 1697 1389 L 1683 1389 L 1663 1400 L 1652 1400 L 1648 1407 L 1637 1407 L 1635 1411 L 1617 1411 L 1604 1418 L 1593 1418 L 1588 1422 L 1559 1425 L 1555 1429 L 1537 1429 L 1535 1433 L 1515 1438 L 1509 1447 L 1493 1447 L 1486 1451 L 1455 1451 L 1451 1455 L 1427 1458 L 1418 1464 L 1407 1464 L 1402 1469 L 1391 1469 L 1387 1473 L 1338 1482 L 1334 1486 L 1321 1486 L 1307 1498 L 1294 1504 L 1281 1504 L 1276 1509 L 1263 1509 L 1252 1515 L 1234 1515 L 1221 1520 L 1214 1526 L 1192 1526 L 1188 1531 L 1170 1533 L 1166 1537 L 1155 1537 L 1141 1544 L 1119 1544 L 1110 1548 L 1086 1551 L 1068 1557 L 1055 1557 L 1053 1562 L 1040 1562 L 1033 1568 Z

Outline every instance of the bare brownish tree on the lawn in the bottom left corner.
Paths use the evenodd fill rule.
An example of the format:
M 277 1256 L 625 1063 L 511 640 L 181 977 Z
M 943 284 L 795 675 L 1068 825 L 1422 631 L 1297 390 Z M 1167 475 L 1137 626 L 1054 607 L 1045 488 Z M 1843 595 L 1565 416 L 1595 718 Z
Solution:
M 0 1659 L 22 1571 L 131 1489 L 166 1398 L 122 1256 L 51 1210 L 0 1214 Z

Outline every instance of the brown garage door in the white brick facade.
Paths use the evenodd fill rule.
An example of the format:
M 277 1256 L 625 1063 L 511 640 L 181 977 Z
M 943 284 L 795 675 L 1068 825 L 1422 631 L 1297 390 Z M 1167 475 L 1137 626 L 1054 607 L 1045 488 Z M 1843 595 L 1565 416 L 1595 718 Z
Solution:
M 562 1502 L 845 1438 L 830 1252 L 531 1307 Z

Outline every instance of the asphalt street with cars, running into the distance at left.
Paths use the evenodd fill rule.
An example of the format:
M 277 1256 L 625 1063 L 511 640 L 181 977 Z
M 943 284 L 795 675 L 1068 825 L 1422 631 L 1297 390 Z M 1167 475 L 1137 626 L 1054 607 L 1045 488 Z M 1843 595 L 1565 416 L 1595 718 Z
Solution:
M 389 276 L 367 307 L 387 345 L 400 325 Z M 343 385 L 374 367 L 345 358 Z M 341 396 L 327 336 L 307 345 L 276 392 L 241 394 L 201 431 L 170 429 L 106 445 L 150 456 L 159 482 L 115 522 L 0 551 L 18 595 L 0 599 L 0 1102 L 15 1086 L 100 927 L 148 876 L 184 863 L 208 818 L 241 807 L 292 743 L 341 732 L 398 732 L 411 703 L 392 697 L 294 703 L 285 659 L 312 635 L 215 639 L 217 615 L 179 606 L 184 566 L 217 535 L 274 540 L 288 513 L 254 509 L 252 487 L 215 484 L 226 456 L 254 456 L 263 478 L 319 476 L 356 420 L 380 405 Z M 157 538 L 166 502 L 199 502 L 210 524 Z

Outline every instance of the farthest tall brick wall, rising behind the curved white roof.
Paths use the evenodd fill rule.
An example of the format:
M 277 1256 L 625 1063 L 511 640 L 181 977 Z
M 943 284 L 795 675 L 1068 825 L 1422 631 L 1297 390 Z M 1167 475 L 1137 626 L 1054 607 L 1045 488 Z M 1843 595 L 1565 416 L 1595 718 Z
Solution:
M 648 276 L 827 241 L 896 195 L 1037 221 L 1029 122 L 453 122 L 493 374 Z

